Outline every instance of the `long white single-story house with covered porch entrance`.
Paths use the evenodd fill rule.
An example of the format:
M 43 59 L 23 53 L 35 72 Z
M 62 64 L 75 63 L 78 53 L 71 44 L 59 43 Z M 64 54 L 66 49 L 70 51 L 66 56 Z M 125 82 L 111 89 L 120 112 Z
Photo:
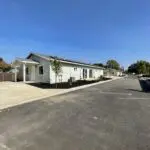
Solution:
M 62 66 L 57 82 L 68 82 L 70 78 L 74 81 L 93 80 L 104 75 L 102 67 L 56 56 L 30 53 L 26 59 L 17 58 L 13 62 L 13 67 L 19 70 L 19 73 L 16 73 L 16 81 L 19 79 L 24 82 L 55 83 L 55 72 L 51 65 L 54 60 L 59 61 Z

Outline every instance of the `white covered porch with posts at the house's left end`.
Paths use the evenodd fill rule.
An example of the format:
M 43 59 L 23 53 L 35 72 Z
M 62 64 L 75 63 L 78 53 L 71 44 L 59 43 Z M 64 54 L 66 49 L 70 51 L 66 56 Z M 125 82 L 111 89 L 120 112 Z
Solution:
M 28 81 L 35 81 L 35 68 L 37 65 L 39 63 L 31 59 L 17 58 L 12 64 L 15 68 L 15 81 L 17 81 L 18 74 L 23 77 L 23 82 L 26 82 L 27 79 Z M 17 70 L 19 70 L 19 73 L 17 73 Z

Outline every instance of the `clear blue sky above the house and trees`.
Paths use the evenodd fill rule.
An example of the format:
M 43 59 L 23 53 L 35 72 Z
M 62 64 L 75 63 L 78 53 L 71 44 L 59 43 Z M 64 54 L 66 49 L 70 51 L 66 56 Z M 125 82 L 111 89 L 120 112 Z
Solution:
M 149 0 L 0 0 L 0 56 L 150 60 Z

